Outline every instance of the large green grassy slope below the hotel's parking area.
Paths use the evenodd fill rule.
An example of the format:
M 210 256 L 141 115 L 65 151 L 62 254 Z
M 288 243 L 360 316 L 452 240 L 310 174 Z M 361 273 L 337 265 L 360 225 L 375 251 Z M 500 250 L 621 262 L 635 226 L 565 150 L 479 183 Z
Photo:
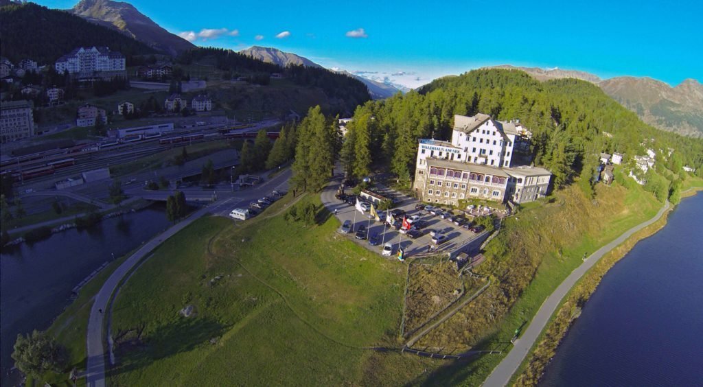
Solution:
M 262 216 L 200 219 L 127 282 L 113 385 L 398 385 L 441 364 L 362 348 L 398 346 L 404 265 L 338 235 L 333 218 Z M 179 316 L 186 305 L 194 317 Z

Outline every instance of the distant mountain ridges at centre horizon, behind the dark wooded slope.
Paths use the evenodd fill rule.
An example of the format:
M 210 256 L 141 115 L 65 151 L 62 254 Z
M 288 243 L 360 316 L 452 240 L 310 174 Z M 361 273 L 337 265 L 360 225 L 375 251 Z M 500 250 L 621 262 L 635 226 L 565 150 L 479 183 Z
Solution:
M 263 60 L 264 62 L 279 65 L 280 67 L 286 67 L 288 65 L 304 65 L 307 67 L 323 68 L 321 65 L 314 63 L 308 58 L 294 53 L 285 53 L 283 51 L 280 51 L 278 48 L 273 47 L 252 46 L 250 48 L 246 48 L 245 50 L 239 51 L 239 53 L 249 55 L 254 59 Z M 338 74 L 348 75 L 349 77 L 353 77 L 355 79 L 359 79 L 359 81 L 363 82 L 363 84 L 366 85 L 366 88 L 368 88 L 368 93 L 370 94 L 371 98 L 375 100 L 388 98 L 399 91 L 399 89 L 395 86 L 384 84 L 378 81 L 373 81 L 371 79 L 367 79 L 344 70 L 335 70 L 335 72 L 337 72 Z

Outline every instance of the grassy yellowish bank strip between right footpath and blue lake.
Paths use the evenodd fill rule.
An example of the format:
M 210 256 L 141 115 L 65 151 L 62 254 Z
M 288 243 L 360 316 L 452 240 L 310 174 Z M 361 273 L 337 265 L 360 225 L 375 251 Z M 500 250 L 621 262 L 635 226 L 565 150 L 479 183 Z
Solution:
M 681 192 L 681 198 L 696 195 L 702 191 L 703 187 L 694 186 Z M 585 306 L 593 292 L 598 289 L 602 278 L 607 272 L 622 258 L 624 258 L 633 247 L 641 240 L 650 237 L 659 230 L 662 230 L 667 223 L 667 219 L 674 208 L 666 211 L 666 214 L 658 221 L 640 230 L 632 237 L 628 238 L 617 248 L 608 254 L 588 271 L 586 276 L 581 278 L 578 284 L 569 291 L 569 294 L 562 299 L 560 307 L 550 317 L 550 322 L 546 329 L 543 329 L 536 343 L 531 347 L 529 354 L 523 360 L 517 372 L 512 375 L 510 384 L 514 386 L 534 386 L 544 374 L 550 360 L 554 357 L 563 339 L 569 332 L 569 328 L 581 315 L 581 310 Z

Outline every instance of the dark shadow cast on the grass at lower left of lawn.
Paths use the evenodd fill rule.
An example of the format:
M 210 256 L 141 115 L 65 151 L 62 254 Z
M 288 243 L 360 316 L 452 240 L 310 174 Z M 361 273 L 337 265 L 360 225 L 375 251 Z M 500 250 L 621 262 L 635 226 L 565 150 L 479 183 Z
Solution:
M 198 346 L 212 345 L 209 340 L 219 338 L 224 330 L 225 326 L 214 320 L 180 318 L 160 327 L 143 341 L 120 343 L 116 351 L 117 365 L 106 369 L 106 376 L 131 372 L 178 353 L 190 352 Z

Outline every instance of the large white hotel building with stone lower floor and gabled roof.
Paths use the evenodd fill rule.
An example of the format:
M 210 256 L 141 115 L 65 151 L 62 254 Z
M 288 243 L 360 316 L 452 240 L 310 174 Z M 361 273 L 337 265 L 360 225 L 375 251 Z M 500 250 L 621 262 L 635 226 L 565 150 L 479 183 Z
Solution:
M 511 168 L 513 150 L 524 148 L 530 137 L 518 122 L 455 115 L 451 142 L 420 139 L 413 188 L 425 202 L 454 206 L 460 199 L 520 204 L 543 197 L 549 171 Z

